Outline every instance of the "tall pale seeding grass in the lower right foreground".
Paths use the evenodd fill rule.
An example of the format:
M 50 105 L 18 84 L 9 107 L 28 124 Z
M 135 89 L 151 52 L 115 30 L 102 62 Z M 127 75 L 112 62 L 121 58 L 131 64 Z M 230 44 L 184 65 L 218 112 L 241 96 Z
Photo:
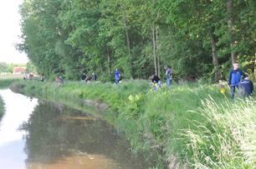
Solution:
M 204 121 L 183 130 L 189 162 L 196 168 L 256 167 L 256 101 L 236 100 L 218 104 L 212 98 L 197 111 Z

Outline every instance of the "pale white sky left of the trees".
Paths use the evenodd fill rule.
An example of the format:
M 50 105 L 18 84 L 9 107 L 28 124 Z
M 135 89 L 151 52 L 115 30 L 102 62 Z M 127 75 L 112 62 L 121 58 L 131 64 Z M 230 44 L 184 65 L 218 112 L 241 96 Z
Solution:
M 0 0 L 0 62 L 26 63 L 28 57 L 15 48 L 21 42 L 19 4 L 23 0 Z

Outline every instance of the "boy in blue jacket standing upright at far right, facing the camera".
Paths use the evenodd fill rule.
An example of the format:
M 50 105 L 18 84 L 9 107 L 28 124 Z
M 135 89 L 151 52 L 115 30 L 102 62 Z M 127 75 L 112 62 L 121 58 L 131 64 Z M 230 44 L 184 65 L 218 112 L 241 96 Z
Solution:
M 231 89 L 230 97 L 232 99 L 234 97 L 235 89 L 238 88 L 238 84 L 239 84 L 239 82 L 241 82 L 242 77 L 244 79 L 247 76 L 244 74 L 244 72 L 242 72 L 239 69 L 238 62 L 234 62 L 233 63 L 233 70 L 229 72 L 229 77 L 228 77 L 228 86 Z

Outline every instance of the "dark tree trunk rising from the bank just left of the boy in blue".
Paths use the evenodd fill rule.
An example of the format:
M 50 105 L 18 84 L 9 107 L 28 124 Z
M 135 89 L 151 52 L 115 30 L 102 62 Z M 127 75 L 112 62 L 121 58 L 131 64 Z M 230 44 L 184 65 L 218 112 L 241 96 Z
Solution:
M 214 82 L 218 82 L 218 80 L 220 80 L 220 70 L 218 65 L 216 37 L 213 32 L 214 32 L 214 29 L 212 29 L 212 31 L 210 32 L 211 45 L 212 45 L 212 63 L 214 66 Z

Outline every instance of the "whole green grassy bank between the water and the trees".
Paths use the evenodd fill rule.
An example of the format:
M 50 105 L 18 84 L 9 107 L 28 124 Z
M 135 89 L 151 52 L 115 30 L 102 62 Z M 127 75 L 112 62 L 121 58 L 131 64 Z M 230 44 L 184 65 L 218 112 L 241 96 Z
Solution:
M 118 86 L 66 82 L 61 87 L 50 82 L 17 82 L 13 89 L 89 112 L 93 111 L 88 110 L 88 103 L 93 103 L 98 107 L 94 115 L 124 133 L 134 152 L 156 159 L 157 168 L 255 165 L 256 102 L 230 102 L 228 93 L 213 85 L 182 84 L 156 92 L 146 81 Z M 104 105 L 100 103 L 108 108 L 99 108 Z

